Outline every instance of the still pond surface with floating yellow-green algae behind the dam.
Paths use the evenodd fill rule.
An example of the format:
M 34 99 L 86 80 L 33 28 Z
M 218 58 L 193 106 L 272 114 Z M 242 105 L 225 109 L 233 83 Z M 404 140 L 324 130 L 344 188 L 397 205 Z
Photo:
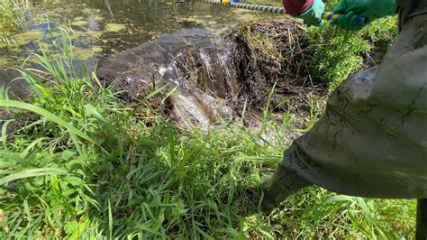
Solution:
M 157 39 L 179 29 L 214 28 L 238 23 L 253 14 L 219 5 L 179 3 L 169 0 L 74 0 L 32 1 L 23 32 L 2 29 L 0 66 L 14 66 L 39 48 L 59 38 L 59 28 L 68 31 L 77 59 L 105 57 L 117 51 Z M 224 26 L 223 26 L 224 27 Z

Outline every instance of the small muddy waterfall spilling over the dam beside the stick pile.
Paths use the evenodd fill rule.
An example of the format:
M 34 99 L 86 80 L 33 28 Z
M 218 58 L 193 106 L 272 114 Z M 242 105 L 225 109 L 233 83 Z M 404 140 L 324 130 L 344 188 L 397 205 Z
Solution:
M 98 76 L 107 84 L 117 78 L 116 90 L 128 102 L 168 84 L 160 94 L 176 89 L 168 112 L 178 125 L 213 124 L 234 115 L 239 84 L 232 44 L 204 29 L 184 29 L 101 61 Z

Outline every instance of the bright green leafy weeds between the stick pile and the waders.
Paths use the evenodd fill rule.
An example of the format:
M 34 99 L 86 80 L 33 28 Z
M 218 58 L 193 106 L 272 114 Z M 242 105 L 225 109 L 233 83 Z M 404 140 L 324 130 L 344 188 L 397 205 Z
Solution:
M 309 54 L 305 60 L 313 74 L 330 91 L 361 69 L 381 62 L 397 36 L 396 17 L 379 19 L 359 32 L 341 30 L 325 24 L 307 32 Z

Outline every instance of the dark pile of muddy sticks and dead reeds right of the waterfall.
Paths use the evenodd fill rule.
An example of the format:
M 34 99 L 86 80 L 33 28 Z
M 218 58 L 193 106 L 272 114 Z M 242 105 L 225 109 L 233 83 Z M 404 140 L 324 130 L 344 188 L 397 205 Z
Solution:
M 304 32 L 302 23 L 293 19 L 241 25 L 234 34 L 237 48 L 233 51 L 241 83 L 237 108 L 246 102 L 251 110 L 259 111 L 269 98 L 270 109 L 284 111 L 285 99 L 304 107 L 309 104 L 307 94 L 323 91 L 304 65 L 310 58 Z

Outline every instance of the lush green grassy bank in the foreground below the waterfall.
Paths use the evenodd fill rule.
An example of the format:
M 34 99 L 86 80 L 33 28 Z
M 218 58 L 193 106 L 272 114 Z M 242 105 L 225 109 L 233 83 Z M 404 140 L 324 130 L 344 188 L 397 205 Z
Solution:
M 259 211 L 261 176 L 286 136 L 304 132 L 292 115 L 265 120 L 268 140 L 240 123 L 181 131 L 143 104 L 124 106 L 95 74 L 69 74 L 67 41 L 59 49 L 38 56 L 51 75 L 20 69 L 29 101 L 0 99 L 2 238 L 412 237 L 413 200 L 309 188 Z

